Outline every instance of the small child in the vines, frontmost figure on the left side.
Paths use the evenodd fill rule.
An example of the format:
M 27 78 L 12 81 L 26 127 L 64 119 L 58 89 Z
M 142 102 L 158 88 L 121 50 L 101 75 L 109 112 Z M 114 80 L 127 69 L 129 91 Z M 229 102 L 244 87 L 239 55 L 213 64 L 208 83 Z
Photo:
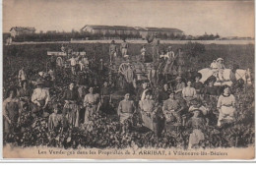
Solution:
M 54 104 L 53 113 L 49 116 L 48 130 L 50 132 L 58 130 L 58 128 L 60 128 L 61 131 L 65 130 L 67 128 L 67 120 L 62 114 L 60 114 L 59 105 Z

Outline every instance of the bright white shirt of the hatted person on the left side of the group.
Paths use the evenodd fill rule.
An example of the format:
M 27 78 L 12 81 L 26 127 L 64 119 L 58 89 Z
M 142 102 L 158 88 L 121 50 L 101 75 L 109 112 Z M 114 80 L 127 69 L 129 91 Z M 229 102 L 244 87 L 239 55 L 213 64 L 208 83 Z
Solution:
M 50 100 L 49 90 L 45 88 L 35 88 L 32 92 L 32 102 L 36 100 L 45 100 L 45 104 Z

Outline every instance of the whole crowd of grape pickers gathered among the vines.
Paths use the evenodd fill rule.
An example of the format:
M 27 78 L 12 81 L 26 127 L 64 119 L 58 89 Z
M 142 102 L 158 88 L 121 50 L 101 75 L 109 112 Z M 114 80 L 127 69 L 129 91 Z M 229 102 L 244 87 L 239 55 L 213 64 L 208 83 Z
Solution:
M 120 48 L 122 56 L 127 55 L 128 44 L 125 40 Z M 110 62 L 116 52 L 116 45 L 112 41 L 109 47 Z M 142 47 L 141 52 L 142 55 L 145 54 L 145 46 Z M 182 55 L 181 49 L 179 55 Z M 172 47 L 169 46 L 167 53 L 161 53 L 158 60 L 164 60 L 168 64 L 163 67 L 166 73 L 172 73 L 175 59 Z M 76 57 L 72 56 L 70 62 L 73 75 L 76 75 L 74 67 L 77 64 L 89 65 L 84 57 L 78 62 Z M 182 58 L 179 63 L 180 67 L 184 65 Z M 212 68 L 219 69 L 214 64 Z M 177 74 L 175 83 L 165 82 L 161 90 L 147 80 L 141 85 L 138 84 L 133 92 L 124 92 L 124 98 L 121 101 L 118 100 L 116 107 L 113 107 L 114 89 L 107 80 L 99 92 L 95 91 L 95 86 L 88 85 L 89 87 L 85 88 L 83 85 L 71 82 L 67 89 L 62 91 L 61 102 L 53 102 L 50 88 L 45 87 L 43 79 L 36 80 L 35 88 L 32 90 L 29 87 L 31 80 L 22 68 L 18 75 L 19 89 L 10 88 L 3 102 L 4 132 L 5 135 L 18 132 L 23 114 L 46 118 L 49 131 L 59 128 L 65 131 L 81 126 L 87 127 L 98 115 L 116 114 L 123 134 L 129 133 L 131 126 L 144 126 L 160 138 L 162 133 L 168 133 L 173 129 L 172 127 L 190 128 L 193 131 L 190 135 L 189 147 L 193 147 L 204 140 L 204 126 L 221 127 L 224 123 L 233 122 L 235 119 L 235 97 L 230 93 L 230 87 L 224 86 L 221 89 L 214 86 L 217 81 L 214 76 L 210 77 L 204 85 L 200 82 L 201 78 L 202 75 L 197 74 L 193 80 L 185 81 L 181 74 Z M 55 79 L 51 81 L 54 82 Z M 213 106 L 213 103 L 216 105 Z M 218 110 L 219 114 L 214 110 Z

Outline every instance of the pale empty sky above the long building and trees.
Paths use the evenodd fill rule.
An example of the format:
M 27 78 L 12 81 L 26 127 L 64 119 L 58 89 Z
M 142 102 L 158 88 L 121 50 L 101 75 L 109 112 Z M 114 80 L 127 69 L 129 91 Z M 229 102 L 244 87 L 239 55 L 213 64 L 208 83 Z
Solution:
M 254 0 L 3 0 L 3 31 L 71 31 L 86 25 L 179 28 L 254 37 Z

